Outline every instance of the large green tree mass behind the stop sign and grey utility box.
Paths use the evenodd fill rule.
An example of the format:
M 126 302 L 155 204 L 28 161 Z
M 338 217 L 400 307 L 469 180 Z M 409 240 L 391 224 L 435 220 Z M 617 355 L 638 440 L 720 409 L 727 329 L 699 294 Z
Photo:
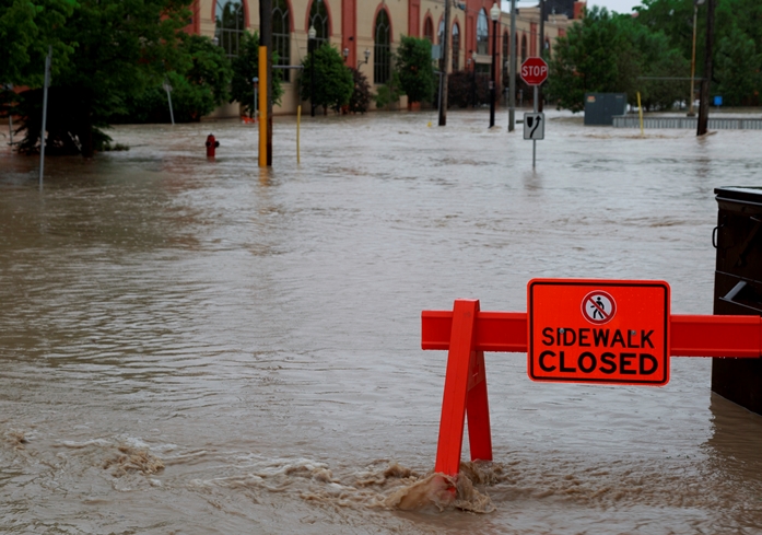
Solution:
M 711 91 L 727 105 L 759 105 L 762 91 L 762 2 L 716 0 Z M 547 93 L 579 111 L 587 91 L 641 92 L 645 106 L 688 101 L 694 0 L 643 0 L 636 16 L 593 8 L 554 47 Z M 696 19 L 695 79 L 703 78 L 706 5 Z M 652 80 L 648 80 L 648 79 Z

